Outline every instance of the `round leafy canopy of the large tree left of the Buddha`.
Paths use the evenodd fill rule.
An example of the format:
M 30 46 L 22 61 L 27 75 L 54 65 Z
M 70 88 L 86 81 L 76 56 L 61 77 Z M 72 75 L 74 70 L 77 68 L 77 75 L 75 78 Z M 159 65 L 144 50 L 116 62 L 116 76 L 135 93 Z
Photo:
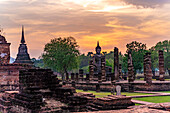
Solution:
M 79 45 L 75 38 L 55 38 L 47 43 L 42 55 L 45 66 L 64 73 L 78 67 Z

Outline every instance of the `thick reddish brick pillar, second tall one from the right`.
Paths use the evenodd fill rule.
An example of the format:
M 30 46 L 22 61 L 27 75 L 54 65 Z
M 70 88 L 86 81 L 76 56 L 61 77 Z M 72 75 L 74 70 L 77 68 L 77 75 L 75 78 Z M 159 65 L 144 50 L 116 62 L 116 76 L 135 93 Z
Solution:
M 152 84 L 152 69 L 151 69 L 151 53 L 146 53 L 145 56 L 145 70 L 146 70 L 146 83 L 148 85 Z

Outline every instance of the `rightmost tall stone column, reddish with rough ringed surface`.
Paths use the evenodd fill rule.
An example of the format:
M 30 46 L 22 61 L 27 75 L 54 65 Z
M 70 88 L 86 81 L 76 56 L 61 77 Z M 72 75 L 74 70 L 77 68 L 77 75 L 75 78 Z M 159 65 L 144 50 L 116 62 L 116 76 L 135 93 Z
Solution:
M 165 80 L 164 55 L 162 50 L 159 50 L 159 80 Z

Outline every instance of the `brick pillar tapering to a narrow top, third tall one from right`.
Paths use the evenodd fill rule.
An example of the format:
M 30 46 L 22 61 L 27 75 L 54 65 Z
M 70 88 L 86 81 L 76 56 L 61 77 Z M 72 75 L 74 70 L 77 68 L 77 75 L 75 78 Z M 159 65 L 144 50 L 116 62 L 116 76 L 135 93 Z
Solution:
M 135 74 L 133 68 L 132 54 L 131 51 L 128 52 L 128 81 L 134 82 Z

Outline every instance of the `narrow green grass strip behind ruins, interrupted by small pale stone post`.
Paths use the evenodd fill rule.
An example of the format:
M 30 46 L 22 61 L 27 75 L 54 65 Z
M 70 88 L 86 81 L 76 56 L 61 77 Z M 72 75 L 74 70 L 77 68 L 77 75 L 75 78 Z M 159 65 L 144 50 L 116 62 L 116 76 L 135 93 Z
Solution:
M 107 95 L 111 95 L 110 92 L 96 92 L 96 91 L 83 91 L 83 90 L 76 90 L 77 92 L 88 92 L 88 93 L 93 93 L 96 95 L 96 98 L 101 98 Z M 126 95 L 126 96 L 136 96 L 136 95 L 152 95 L 148 93 L 128 93 L 128 92 L 122 92 L 121 95 Z

